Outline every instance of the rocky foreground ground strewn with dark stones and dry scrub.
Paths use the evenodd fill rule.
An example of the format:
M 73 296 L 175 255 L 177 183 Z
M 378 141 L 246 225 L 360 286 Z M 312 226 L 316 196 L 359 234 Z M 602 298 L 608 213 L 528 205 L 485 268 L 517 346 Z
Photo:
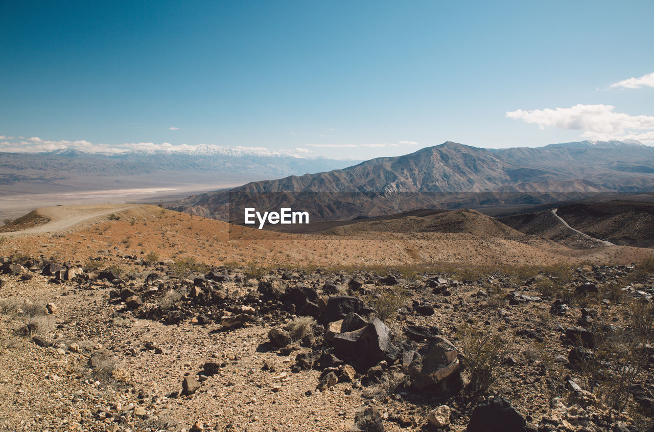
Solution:
M 652 426 L 651 262 L 0 261 L 3 430 Z

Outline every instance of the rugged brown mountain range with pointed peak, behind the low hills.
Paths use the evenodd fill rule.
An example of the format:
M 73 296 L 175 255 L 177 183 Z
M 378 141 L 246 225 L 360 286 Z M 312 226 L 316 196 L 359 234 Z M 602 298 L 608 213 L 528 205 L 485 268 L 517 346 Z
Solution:
M 654 147 L 637 141 L 581 141 L 480 149 L 448 141 L 405 156 L 256 181 L 189 196 L 171 208 L 242 221 L 243 207 L 309 211 L 314 221 L 417 208 L 542 204 L 611 192 L 654 190 Z

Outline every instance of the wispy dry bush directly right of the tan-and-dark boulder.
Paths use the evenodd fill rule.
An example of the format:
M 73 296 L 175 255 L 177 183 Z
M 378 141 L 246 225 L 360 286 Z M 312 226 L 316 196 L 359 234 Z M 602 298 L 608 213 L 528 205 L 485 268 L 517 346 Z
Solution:
M 513 347 L 513 336 L 502 338 L 498 333 L 473 325 L 460 328 L 457 335 L 463 350 L 464 365 L 470 372 L 467 391 L 473 398 L 485 395 Z

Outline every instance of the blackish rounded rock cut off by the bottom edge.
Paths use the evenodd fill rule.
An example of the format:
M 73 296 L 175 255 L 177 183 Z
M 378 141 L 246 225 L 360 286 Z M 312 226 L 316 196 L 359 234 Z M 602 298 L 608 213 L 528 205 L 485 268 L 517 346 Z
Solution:
M 468 432 L 527 432 L 525 418 L 506 397 L 489 399 L 475 407 L 470 415 Z

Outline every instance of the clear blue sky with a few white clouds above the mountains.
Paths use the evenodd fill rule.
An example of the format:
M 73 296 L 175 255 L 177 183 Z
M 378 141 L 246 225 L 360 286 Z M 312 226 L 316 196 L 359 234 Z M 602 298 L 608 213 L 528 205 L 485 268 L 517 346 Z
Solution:
M 0 16 L 5 151 L 654 144 L 652 1 L 0 1 Z

